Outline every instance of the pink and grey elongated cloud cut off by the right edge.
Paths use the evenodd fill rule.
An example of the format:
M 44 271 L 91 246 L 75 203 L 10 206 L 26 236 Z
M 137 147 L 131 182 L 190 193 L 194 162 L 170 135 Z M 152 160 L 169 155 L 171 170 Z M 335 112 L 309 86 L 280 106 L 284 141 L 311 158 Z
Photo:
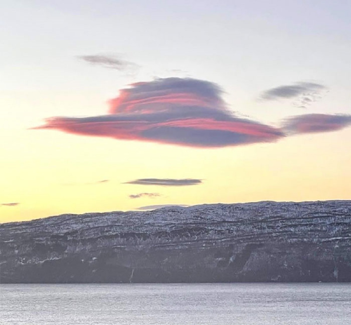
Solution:
M 284 128 L 291 134 L 337 131 L 351 125 L 351 115 L 304 114 L 285 120 Z

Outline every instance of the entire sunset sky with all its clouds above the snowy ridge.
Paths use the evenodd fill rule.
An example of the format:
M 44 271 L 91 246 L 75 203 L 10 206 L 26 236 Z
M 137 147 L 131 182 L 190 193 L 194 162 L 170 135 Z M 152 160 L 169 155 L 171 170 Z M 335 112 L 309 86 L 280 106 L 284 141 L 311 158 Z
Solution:
M 0 9 L 1 223 L 351 199 L 350 1 Z

